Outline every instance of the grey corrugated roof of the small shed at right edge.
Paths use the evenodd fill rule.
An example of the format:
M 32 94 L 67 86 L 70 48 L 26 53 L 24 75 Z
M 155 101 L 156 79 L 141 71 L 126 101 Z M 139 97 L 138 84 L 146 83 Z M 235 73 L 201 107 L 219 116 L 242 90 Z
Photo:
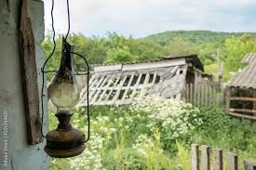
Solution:
M 249 53 L 242 61 L 249 65 L 236 73 L 229 86 L 256 88 L 256 54 Z

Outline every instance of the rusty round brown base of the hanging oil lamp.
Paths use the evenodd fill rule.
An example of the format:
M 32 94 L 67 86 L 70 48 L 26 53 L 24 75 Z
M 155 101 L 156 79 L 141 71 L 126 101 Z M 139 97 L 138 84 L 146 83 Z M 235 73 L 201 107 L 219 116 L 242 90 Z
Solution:
M 49 156 L 68 158 L 79 155 L 85 150 L 85 135 L 69 124 L 72 115 L 69 111 L 59 111 L 56 114 L 60 124 L 57 129 L 47 133 L 45 151 Z

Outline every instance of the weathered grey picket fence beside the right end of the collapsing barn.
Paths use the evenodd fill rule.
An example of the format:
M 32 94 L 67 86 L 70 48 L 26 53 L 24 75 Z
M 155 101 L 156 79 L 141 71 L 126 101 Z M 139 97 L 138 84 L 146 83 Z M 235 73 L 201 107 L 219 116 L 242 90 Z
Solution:
M 187 84 L 184 99 L 186 102 L 196 106 L 222 105 L 223 92 L 221 85 L 217 83 Z

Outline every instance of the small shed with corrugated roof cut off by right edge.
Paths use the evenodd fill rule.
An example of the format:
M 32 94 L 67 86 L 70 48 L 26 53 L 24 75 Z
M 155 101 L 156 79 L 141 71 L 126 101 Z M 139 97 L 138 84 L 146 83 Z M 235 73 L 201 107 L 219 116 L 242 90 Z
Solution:
M 225 108 L 233 116 L 256 120 L 256 54 L 242 61 L 248 65 L 225 87 Z

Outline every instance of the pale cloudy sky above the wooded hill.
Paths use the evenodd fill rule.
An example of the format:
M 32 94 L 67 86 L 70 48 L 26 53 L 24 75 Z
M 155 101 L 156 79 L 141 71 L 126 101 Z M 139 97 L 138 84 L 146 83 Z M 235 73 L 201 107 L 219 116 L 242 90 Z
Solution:
M 45 2 L 50 29 L 52 0 Z M 256 0 L 70 0 L 71 32 L 142 37 L 172 30 L 256 32 Z M 66 0 L 55 0 L 57 33 L 67 30 Z

